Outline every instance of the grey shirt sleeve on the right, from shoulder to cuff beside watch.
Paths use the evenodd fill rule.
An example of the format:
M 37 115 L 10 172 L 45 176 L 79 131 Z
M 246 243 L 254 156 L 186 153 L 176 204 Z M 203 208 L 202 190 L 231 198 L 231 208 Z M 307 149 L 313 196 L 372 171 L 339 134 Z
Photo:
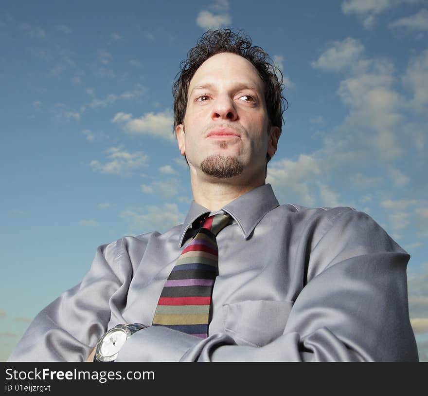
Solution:
M 351 209 L 334 213 L 317 241 L 309 235 L 301 242 L 304 287 L 277 339 L 256 347 L 226 333 L 200 340 L 152 327 L 128 339 L 117 360 L 417 361 L 407 300 L 410 256 L 370 216 Z

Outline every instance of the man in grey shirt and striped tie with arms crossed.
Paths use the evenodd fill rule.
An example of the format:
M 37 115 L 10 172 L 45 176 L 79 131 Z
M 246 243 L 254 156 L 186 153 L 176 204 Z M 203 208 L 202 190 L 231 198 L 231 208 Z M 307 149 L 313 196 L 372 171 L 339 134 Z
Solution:
M 267 54 L 209 31 L 174 97 L 183 225 L 100 246 L 9 360 L 418 360 L 409 255 L 364 213 L 280 206 L 265 184 L 283 112 Z

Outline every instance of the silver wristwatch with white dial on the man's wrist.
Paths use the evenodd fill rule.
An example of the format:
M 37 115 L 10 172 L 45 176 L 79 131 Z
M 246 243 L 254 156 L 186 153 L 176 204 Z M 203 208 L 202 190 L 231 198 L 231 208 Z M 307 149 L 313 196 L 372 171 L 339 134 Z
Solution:
M 93 361 L 114 361 L 125 341 L 145 327 L 141 323 L 127 323 L 111 328 L 99 339 Z

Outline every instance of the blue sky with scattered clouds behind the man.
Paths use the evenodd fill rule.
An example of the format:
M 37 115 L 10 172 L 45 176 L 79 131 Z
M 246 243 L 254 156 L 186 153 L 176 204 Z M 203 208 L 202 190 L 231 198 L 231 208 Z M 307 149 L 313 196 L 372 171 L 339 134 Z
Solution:
M 280 203 L 366 211 L 410 253 L 410 318 L 428 360 L 422 0 L 3 0 L 0 360 L 98 245 L 184 219 L 172 82 L 218 27 L 243 29 L 284 74 L 267 176 Z

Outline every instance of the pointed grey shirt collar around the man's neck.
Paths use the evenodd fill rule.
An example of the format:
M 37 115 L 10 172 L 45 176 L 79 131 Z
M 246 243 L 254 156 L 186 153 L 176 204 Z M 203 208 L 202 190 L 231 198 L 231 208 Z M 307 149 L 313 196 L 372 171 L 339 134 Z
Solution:
M 229 204 L 222 207 L 226 213 L 229 213 L 241 228 L 242 234 L 247 239 L 255 226 L 262 218 L 272 210 L 279 206 L 278 200 L 273 193 L 270 184 L 252 189 L 251 191 L 241 195 Z M 210 210 L 202 205 L 192 201 L 189 212 L 181 227 L 179 246 L 183 244 L 184 236 L 187 230 L 192 226 L 192 223 L 205 213 L 210 213 Z

